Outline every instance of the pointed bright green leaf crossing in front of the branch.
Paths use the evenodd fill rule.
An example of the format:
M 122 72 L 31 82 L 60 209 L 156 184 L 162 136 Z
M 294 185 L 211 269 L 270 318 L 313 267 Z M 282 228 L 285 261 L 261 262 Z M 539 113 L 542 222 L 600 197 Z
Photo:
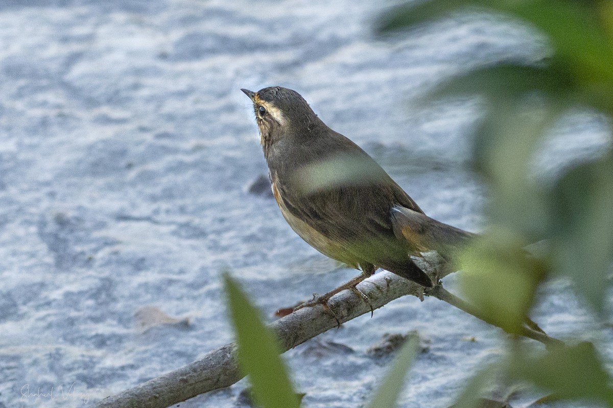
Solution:
M 281 360 L 277 339 L 230 275 L 225 273 L 223 279 L 237 335 L 238 365 L 249 376 L 254 399 L 263 408 L 298 408 L 299 398 Z

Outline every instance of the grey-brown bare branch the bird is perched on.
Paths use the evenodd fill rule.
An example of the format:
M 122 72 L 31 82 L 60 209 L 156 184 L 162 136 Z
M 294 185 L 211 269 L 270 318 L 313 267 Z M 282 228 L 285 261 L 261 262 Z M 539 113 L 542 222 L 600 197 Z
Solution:
M 432 265 L 426 262 L 420 267 L 433 276 L 435 271 Z M 437 272 L 438 277 L 443 278 L 454 271 L 438 270 Z M 386 271 L 376 273 L 357 287 L 360 292 L 367 295 L 373 309 L 380 308 L 404 295 L 414 295 L 423 299 L 424 292 L 424 288 L 419 284 Z M 434 290 L 431 295 L 482 319 L 468 306 L 468 303 L 447 291 Z M 334 295 L 328 304 L 341 323 L 371 311 L 367 302 L 349 290 Z M 337 327 L 337 320 L 327 313 L 323 306 L 317 305 L 295 311 L 270 323 L 268 327 L 276 332 L 283 351 L 287 351 L 330 328 Z M 541 341 L 547 346 L 557 342 L 529 327 L 522 335 Z M 175 371 L 163 374 L 117 395 L 109 396 L 97 402 L 95 408 L 166 408 L 202 393 L 229 387 L 242 377 L 236 360 L 236 344 L 230 343 L 208 352 L 199 360 Z

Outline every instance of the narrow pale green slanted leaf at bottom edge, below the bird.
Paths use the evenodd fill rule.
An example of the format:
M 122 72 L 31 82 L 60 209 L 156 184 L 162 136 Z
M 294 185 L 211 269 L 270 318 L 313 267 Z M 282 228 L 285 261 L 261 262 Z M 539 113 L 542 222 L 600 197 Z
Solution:
M 411 336 L 398 352 L 392 368 L 383 379 L 367 408 L 394 408 L 398 406 L 398 395 L 405 384 L 406 373 L 411 368 L 417 354 L 419 337 Z

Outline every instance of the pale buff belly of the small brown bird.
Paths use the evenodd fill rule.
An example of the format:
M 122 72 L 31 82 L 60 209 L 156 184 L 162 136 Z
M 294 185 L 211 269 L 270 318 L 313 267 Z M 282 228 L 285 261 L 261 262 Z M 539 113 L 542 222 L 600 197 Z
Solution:
M 281 198 L 281 193 L 276 188 L 274 182 L 272 183 L 272 191 L 275 195 L 275 200 L 279 205 L 279 209 L 281 210 L 281 214 L 283 214 L 283 218 L 285 218 L 289 226 L 291 226 L 291 228 L 300 238 L 305 240 L 309 245 L 311 245 L 311 247 L 315 248 L 322 254 L 358 269 L 358 262 L 356 259 L 352 259 L 353 257 L 348 253 L 345 245 L 329 239 L 324 234 L 305 223 L 305 221 L 300 220 L 300 218 L 296 217 L 287 209 L 283 199 Z

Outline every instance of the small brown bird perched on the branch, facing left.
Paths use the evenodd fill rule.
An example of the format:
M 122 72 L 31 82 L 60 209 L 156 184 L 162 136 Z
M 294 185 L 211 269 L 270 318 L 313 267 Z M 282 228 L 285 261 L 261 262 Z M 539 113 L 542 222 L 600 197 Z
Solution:
M 320 297 L 389 270 L 425 287 L 432 280 L 411 259 L 430 250 L 449 258 L 472 234 L 427 217 L 357 144 L 327 127 L 298 94 L 280 86 L 253 101 L 270 182 L 281 213 L 312 247 L 362 275 Z

